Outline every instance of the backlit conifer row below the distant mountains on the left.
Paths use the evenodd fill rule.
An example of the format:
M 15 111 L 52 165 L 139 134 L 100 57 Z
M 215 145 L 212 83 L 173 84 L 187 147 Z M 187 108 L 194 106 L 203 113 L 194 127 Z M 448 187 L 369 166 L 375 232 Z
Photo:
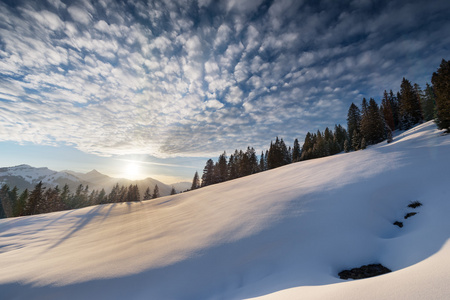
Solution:
M 176 194 L 172 187 L 171 195 Z M 143 200 L 156 199 L 160 197 L 158 185 L 153 192 L 150 187 L 144 193 Z M 117 183 L 107 194 L 105 189 L 89 190 L 89 186 L 80 184 L 74 193 L 66 184 L 61 189 L 45 187 L 42 182 L 36 184 L 33 190 L 25 189 L 19 192 L 17 186 L 12 189 L 4 184 L 0 189 L 0 218 L 36 215 L 61 210 L 82 208 L 97 204 L 134 202 L 140 201 L 141 196 L 137 185 L 119 186 Z

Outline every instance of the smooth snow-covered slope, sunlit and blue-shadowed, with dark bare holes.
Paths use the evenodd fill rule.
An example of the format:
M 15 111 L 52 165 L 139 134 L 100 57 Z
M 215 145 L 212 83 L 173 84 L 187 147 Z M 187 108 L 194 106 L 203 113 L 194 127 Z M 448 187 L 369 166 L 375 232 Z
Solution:
M 445 299 L 449 153 L 428 122 L 156 201 L 3 219 L 1 298 Z M 337 276 L 369 263 L 394 272 Z

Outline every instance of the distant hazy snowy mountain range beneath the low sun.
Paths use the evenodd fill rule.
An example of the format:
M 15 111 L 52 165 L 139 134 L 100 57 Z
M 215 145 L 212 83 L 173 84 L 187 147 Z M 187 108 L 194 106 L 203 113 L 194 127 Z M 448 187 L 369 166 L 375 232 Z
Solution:
M 75 189 L 82 184 L 83 186 L 89 186 L 91 191 L 101 190 L 104 188 L 106 193 L 109 193 L 116 183 L 118 183 L 119 186 L 137 184 L 141 197 L 143 197 L 147 188 L 150 188 L 153 192 L 155 185 L 158 185 L 161 196 L 169 195 L 172 190 L 172 186 L 175 188 L 177 193 L 190 188 L 189 182 L 179 182 L 173 185 L 167 185 L 150 177 L 142 180 L 113 178 L 102 174 L 97 170 L 92 170 L 88 173 L 79 173 L 70 170 L 58 172 L 50 170 L 46 167 L 35 168 L 29 165 L 0 168 L 0 186 L 3 184 L 8 184 L 10 187 L 17 186 L 19 190 L 32 190 L 40 181 L 42 181 L 44 186 L 48 187 L 62 187 L 67 184 L 71 191 L 75 191 Z

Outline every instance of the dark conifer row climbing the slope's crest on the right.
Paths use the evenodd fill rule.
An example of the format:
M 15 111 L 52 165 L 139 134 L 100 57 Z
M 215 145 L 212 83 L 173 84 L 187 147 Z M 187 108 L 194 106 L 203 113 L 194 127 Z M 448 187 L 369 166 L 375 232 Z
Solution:
M 352 103 L 347 114 L 347 129 L 335 125 L 334 131 L 325 128 L 308 132 L 302 147 L 298 139 L 293 147 L 276 137 L 259 158 L 253 147 L 235 150 L 228 158 L 226 152 L 214 162 L 209 159 L 202 177 L 195 172 L 191 190 L 274 169 L 293 162 L 334 155 L 342 151 L 357 151 L 381 141 L 392 141 L 392 132 L 407 130 L 423 121 L 435 120 L 439 129 L 450 132 L 450 62 L 442 60 L 425 90 L 402 79 L 400 91 L 383 93 L 381 105 L 363 98 L 361 108 Z

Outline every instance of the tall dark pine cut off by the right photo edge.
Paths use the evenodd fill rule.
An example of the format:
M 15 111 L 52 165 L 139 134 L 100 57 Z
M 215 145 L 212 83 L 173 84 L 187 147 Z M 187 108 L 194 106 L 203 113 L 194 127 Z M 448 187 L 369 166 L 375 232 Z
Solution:
M 436 94 L 436 123 L 439 129 L 450 132 L 450 61 L 442 60 L 431 82 Z

